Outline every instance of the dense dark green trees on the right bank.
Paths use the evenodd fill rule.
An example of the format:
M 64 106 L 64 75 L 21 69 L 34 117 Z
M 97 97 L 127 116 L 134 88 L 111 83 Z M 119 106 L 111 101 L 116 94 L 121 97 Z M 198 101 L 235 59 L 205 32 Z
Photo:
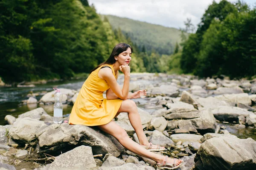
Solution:
M 201 77 L 256 75 L 255 7 L 241 1 L 213 1 L 195 34 L 183 43 L 180 68 Z

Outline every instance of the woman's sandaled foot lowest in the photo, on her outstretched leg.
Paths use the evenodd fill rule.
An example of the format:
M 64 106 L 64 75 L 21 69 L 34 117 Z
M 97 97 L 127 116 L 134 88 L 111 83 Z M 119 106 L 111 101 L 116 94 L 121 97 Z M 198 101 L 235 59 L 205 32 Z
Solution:
M 159 169 L 169 169 L 169 170 L 175 170 L 178 167 L 180 167 L 183 164 L 183 161 L 181 159 L 172 159 L 168 156 L 163 156 L 162 162 L 157 162 L 157 167 Z

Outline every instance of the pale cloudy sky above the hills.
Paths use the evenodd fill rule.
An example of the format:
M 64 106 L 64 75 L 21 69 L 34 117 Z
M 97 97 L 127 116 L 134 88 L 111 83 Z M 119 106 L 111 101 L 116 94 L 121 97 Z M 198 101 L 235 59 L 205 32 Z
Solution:
M 221 0 L 215 0 L 219 3 Z M 229 0 L 236 2 L 237 0 Z M 256 6 L 256 0 L 243 0 Z M 212 0 L 88 0 L 99 14 L 111 14 L 132 20 L 145 21 L 166 27 L 184 28 L 184 21 L 191 19 L 194 26 L 200 23 Z

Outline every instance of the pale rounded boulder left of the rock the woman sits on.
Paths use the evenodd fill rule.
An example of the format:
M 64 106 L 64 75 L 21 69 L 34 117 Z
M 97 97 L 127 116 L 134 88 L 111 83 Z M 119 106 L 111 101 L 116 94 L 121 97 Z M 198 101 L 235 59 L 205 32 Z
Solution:
M 47 127 L 44 121 L 32 118 L 17 118 L 9 130 L 9 135 L 19 143 L 34 145 L 37 144 L 35 133 L 42 127 Z

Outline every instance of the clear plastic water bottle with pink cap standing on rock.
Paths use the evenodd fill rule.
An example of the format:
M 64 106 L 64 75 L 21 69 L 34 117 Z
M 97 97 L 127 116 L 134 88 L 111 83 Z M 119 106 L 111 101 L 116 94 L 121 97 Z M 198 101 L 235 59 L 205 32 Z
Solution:
M 61 124 L 63 119 L 63 106 L 62 106 L 62 94 L 61 90 L 58 88 L 53 88 L 55 90 L 54 93 L 54 105 L 53 105 L 53 122 L 55 124 Z

